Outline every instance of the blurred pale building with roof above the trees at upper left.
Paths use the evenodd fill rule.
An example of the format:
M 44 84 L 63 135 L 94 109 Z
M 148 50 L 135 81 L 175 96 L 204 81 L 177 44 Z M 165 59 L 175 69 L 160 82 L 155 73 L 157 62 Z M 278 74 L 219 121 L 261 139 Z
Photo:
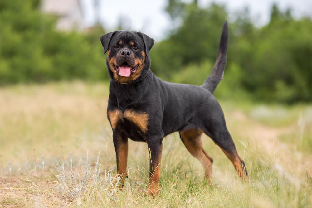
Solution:
M 57 29 L 69 31 L 85 27 L 80 0 L 41 0 L 41 10 L 59 17 Z

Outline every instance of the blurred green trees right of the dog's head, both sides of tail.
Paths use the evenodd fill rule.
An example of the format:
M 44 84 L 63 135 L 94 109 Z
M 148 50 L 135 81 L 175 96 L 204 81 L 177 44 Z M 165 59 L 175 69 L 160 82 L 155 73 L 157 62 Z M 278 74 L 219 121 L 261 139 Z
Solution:
M 150 52 L 151 69 L 165 80 L 200 85 L 215 61 L 226 9 L 169 0 L 166 11 L 173 23 L 180 24 Z M 295 20 L 290 9 L 282 12 L 274 4 L 266 26 L 255 27 L 246 8 L 229 27 L 227 81 L 220 83 L 223 92 L 217 90 L 217 96 L 231 97 L 236 93 L 231 89 L 236 89 L 255 100 L 312 100 L 311 18 Z

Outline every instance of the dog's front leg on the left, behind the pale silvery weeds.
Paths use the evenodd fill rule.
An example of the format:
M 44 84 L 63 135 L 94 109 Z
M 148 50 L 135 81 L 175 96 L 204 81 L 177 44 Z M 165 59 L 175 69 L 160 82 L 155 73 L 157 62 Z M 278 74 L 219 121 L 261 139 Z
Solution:
M 127 176 L 128 138 L 120 133 L 113 132 L 113 141 L 116 151 L 117 172 L 120 179 L 120 188 L 124 186 L 124 178 Z

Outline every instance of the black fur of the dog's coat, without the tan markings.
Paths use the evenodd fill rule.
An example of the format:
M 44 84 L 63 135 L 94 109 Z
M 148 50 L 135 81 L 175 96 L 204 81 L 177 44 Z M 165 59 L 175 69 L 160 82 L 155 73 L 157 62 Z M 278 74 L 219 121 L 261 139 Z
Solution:
M 124 45 L 115 49 L 114 46 L 119 41 L 123 41 Z M 109 60 L 120 56 L 118 52 L 122 48 L 132 50 L 129 41 L 134 41 L 139 47 L 139 51 L 132 51 L 134 57 L 143 60 L 141 52 L 145 52 L 145 66 L 137 79 L 131 80 L 127 84 L 121 84 L 114 79 L 114 72 L 110 68 Z M 101 43 L 105 52 L 110 49 L 107 57 L 108 73 L 111 77 L 107 111 L 118 109 L 124 113 L 127 109 L 131 109 L 137 113 L 146 113 L 149 118 L 146 132 L 128 119 L 119 119 L 116 128 L 113 129 L 114 135 L 119 135 L 124 141 L 130 138 L 134 141 L 146 142 L 152 150 L 152 154 L 153 152 L 159 154 L 165 136 L 176 131 L 196 128 L 212 138 L 228 154 L 237 154 L 231 135 L 227 130 L 222 109 L 213 96 L 214 90 L 223 77 L 226 65 L 227 22 L 223 26 L 216 63 L 211 75 L 202 86 L 170 83 L 156 77 L 149 69 L 150 59 L 148 56 L 154 40 L 143 33 L 115 31 L 101 36 Z M 118 140 L 116 136 L 113 138 L 117 154 L 117 143 L 120 139 Z M 245 167 L 245 163 L 242 162 L 242 164 Z

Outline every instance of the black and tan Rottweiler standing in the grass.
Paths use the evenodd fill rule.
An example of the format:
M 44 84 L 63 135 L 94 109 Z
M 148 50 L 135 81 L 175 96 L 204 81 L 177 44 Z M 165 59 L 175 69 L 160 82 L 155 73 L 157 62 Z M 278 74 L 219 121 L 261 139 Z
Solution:
M 178 131 L 185 147 L 202 163 L 208 179 L 212 157 L 202 148 L 202 133 L 222 149 L 241 177 L 247 176 L 222 109 L 213 96 L 226 64 L 227 22 L 223 25 L 216 63 L 202 86 L 164 82 L 156 77 L 149 68 L 149 50 L 154 40 L 141 32 L 114 31 L 102 35 L 100 40 L 104 53 L 108 51 L 111 81 L 107 117 L 113 129 L 118 174 L 127 174 L 128 138 L 146 142 L 150 153 L 148 192 L 156 194 L 163 138 Z

